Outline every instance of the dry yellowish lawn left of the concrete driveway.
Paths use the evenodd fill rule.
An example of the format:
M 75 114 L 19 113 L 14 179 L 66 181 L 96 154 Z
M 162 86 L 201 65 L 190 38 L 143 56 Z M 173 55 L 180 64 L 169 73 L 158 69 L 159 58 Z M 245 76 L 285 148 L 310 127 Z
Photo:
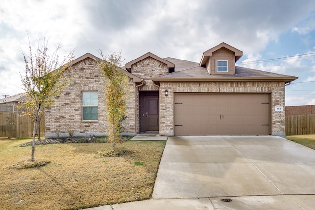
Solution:
M 18 147 L 28 141 L 0 139 L 1 210 L 72 210 L 148 199 L 165 146 L 127 141 L 122 146 L 131 154 L 104 157 L 98 152 L 110 143 L 39 145 L 35 159 L 51 163 L 9 168 L 31 156 L 31 147 Z

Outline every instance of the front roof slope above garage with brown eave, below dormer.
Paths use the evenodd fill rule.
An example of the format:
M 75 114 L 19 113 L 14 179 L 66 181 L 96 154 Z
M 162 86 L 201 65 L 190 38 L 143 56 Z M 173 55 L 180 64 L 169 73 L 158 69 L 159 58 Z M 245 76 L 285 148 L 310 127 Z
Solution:
M 175 63 L 176 65 L 176 63 Z M 159 81 L 284 81 L 291 82 L 298 77 L 260 71 L 250 68 L 235 66 L 235 75 L 209 74 L 201 66 L 189 68 L 159 77 L 151 78 L 155 83 Z

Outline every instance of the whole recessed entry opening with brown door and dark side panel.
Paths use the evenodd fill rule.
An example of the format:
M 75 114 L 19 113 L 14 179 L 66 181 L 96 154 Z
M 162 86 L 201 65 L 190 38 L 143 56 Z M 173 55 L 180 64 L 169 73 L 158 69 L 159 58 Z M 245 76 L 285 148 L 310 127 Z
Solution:
M 140 133 L 158 133 L 158 91 L 140 91 Z

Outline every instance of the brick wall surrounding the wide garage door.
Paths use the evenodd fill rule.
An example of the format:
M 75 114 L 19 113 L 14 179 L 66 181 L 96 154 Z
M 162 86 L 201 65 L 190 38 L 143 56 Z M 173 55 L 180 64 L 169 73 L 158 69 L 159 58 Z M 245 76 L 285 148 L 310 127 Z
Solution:
M 168 90 L 168 97 L 164 91 Z M 161 82 L 160 84 L 160 133 L 173 135 L 173 104 L 176 92 L 270 92 L 271 132 L 285 135 L 285 109 L 275 111 L 275 106 L 285 107 L 284 82 Z

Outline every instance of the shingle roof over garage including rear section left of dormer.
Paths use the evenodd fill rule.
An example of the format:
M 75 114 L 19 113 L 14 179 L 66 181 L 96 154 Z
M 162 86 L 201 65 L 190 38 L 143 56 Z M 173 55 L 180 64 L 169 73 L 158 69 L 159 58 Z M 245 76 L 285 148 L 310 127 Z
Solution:
M 175 64 L 175 72 L 151 78 L 153 81 L 285 81 L 291 82 L 297 77 L 235 66 L 235 75 L 209 74 L 199 63 L 174 58 L 165 58 Z

